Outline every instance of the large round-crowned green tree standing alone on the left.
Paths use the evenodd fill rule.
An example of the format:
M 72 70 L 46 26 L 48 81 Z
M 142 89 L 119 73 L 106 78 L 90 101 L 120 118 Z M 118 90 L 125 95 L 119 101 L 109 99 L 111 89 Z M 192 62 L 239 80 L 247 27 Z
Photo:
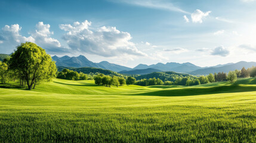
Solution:
M 17 46 L 9 62 L 10 69 L 20 72 L 19 76 L 24 78 L 29 90 L 36 82 L 55 77 L 57 71 L 51 56 L 32 42 L 21 43 Z

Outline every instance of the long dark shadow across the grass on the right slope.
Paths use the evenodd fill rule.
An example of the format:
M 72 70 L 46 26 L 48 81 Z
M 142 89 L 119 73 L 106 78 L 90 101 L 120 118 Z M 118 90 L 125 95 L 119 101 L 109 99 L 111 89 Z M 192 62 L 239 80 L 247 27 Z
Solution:
M 144 92 L 144 93 L 132 94 L 132 95 L 182 97 L 182 96 L 192 96 L 192 95 L 224 94 L 224 93 L 250 92 L 250 91 L 256 91 L 256 86 L 240 86 L 238 84 L 234 84 L 234 85 L 216 86 L 216 87 L 164 89 L 161 91 L 150 91 L 150 92 Z

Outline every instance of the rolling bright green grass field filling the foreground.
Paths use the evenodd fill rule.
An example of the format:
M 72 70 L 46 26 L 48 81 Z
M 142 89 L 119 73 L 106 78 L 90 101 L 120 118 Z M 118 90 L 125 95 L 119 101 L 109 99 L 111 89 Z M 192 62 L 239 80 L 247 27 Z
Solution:
M 1 85 L 0 142 L 256 142 L 256 79 L 199 86 Z M 5 88 L 3 88 L 5 87 Z

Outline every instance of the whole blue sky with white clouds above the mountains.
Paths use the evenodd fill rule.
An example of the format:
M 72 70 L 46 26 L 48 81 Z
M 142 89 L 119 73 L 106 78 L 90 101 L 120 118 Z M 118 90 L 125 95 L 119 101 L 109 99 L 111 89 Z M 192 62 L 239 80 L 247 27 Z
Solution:
M 28 41 L 52 56 L 127 67 L 256 61 L 255 7 L 256 0 L 1 0 L 0 53 Z

